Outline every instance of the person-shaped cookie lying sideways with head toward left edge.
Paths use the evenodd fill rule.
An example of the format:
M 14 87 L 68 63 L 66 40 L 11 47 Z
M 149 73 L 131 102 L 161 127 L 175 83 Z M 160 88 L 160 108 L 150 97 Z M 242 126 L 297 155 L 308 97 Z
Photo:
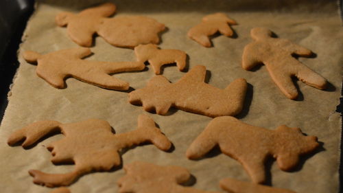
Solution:
M 64 80 L 73 77 L 97 87 L 126 91 L 129 89 L 129 83 L 110 76 L 110 74 L 123 71 L 140 71 L 145 68 L 144 63 L 140 62 L 82 60 L 90 54 L 91 49 L 77 47 L 61 49 L 44 55 L 26 51 L 23 57 L 28 63 L 37 63 L 37 75 L 57 89 L 64 89 L 66 87 Z

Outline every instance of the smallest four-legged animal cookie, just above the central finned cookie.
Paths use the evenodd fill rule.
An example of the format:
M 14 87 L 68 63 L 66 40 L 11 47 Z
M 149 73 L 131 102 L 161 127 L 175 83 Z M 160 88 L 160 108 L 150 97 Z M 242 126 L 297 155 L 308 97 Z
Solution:
M 176 63 L 180 71 L 186 67 L 187 55 L 178 49 L 158 49 L 157 45 L 147 44 L 134 47 L 134 54 L 137 61 L 141 63 L 148 61 L 155 74 L 161 73 L 161 66 L 171 63 Z

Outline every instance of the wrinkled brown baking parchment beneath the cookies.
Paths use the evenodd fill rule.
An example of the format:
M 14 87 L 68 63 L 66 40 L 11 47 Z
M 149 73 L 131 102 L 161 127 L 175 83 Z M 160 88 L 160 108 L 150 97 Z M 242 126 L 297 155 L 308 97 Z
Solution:
M 38 78 L 36 66 L 23 60 L 25 50 L 42 54 L 59 49 L 78 47 L 67 35 L 65 27 L 58 27 L 55 16 L 62 11 L 80 12 L 103 1 L 38 1 L 36 11 L 27 24 L 23 44 L 19 49 L 21 63 L 9 93 L 9 104 L 0 127 L 0 190 L 1 192 L 50 192 L 32 183 L 28 170 L 36 169 L 49 173 L 68 172 L 70 166 L 54 166 L 45 148 L 62 135 L 49 137 L 33 148 L 6 144 L 14 130 L 39 120 L 56 120 L 62 123 L 79 122 L 88 118 L 107 120 L 116 133 L 124 133 L 137 127 L 141 113 L 150 115 L 163 133 L 174 144 L 174 150 L 163 152 L 152 144 L 137 146 L 124 151 L 123 164 L 132 161 L 148 161 L 158 165 L 176 165 L 188 168 L 196 181 L 193 187 L 202 190 L 217 190 L 220 179 L 232 177 L 250 181 L 243 167 L 219 150 L 213 150 L 206 158 L 191 161 L 185 151 L 211 121 L 210 117 L 171 109 L 161 116 L 143 111 L 141 106 L 128 102 L 128 93 L 110 91 L 80 82 L 67 80 L 67 89 L 55 89 Z M 239 120 L 274 129 L 281 124 L 299 127 L 307 135 L 316 135 L 321 148 L 301 157 L 293 172 L 283 172 L 276 162 L 268 162 L 268 185 L 286 188 L 295 192 L 338 192 L 338 166 L 340 155 L 340 115 L 335 113 L 342 80 L 342 23 L 335 1 L 113 1 L 117 5 L 115 16 L 143 15 L 165 23 L 167 30 L 161 34 L 163 49 L 181 49 L 189 60 L 189 68 L 205 65 L 206 81 L 224 89 L 236 78 L 246 78 L 248 93 L 244 110 L 237 115 Z M 187 38 L 190 27 L 200 23 L 202 17 L 214 12 L 226 12 L 235 19 L 235 36 L 213 36 L 213 47 L 202 47 Z M 314 89 L 294 80 L 300 91 L 298 100 L 289 100 L 272 82 L 264 66 L 253 71 L 241 67 L 244 46 L 252 41 L 252 27 L 268 27 L 280 38 L 311 49 L 314 58 L 299 58 L 301 62 L 320 73 L 329 81 L 326 91 Z M 136 60 L 132 49 L 113 47 L 97 36 L 93 55 L 86 60 L 132 61 Z M 176 82 L 185 75 L 175 66 L 163 68 L 163 76 Z M 145 87 L 154 76 L 147 65 L 145 71 L 117 73 L 121 80 L 130 82 L 133 89 Z M 87 146 L 87 144 L 84 144 Z M 117 180 L 123 177 L 121 167 L 110 172 L 96 172 L 81 177 L 70 186 L 71 192 L 117 192 Z

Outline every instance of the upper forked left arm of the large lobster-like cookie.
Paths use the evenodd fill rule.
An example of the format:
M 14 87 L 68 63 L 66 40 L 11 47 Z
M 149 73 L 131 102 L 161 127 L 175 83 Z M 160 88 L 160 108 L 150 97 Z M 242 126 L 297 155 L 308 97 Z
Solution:
M 60 122 L 56 121 L 34 122 L 12 133 L 12 135 L 8 137 L 8 145 L 14 146 L 24 140 L 21 145 L 23 148 L 26 148 L 45 135 L 60 131 L 60 125 Z

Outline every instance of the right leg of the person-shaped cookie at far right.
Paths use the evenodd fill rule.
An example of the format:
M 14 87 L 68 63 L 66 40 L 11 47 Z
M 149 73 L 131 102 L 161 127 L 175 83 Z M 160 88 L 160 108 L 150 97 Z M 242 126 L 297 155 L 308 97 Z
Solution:
M 320 76 L 318 73 L 309 69 L 309 67 L 300 63 L 298 67 L 298 72 L 296 73 L 296 77 L 305 82 L 306 84 L 310 85 L 311 87 L 315 87 L 317 89 L 325 89 L 327 87 L 327 80 Z

